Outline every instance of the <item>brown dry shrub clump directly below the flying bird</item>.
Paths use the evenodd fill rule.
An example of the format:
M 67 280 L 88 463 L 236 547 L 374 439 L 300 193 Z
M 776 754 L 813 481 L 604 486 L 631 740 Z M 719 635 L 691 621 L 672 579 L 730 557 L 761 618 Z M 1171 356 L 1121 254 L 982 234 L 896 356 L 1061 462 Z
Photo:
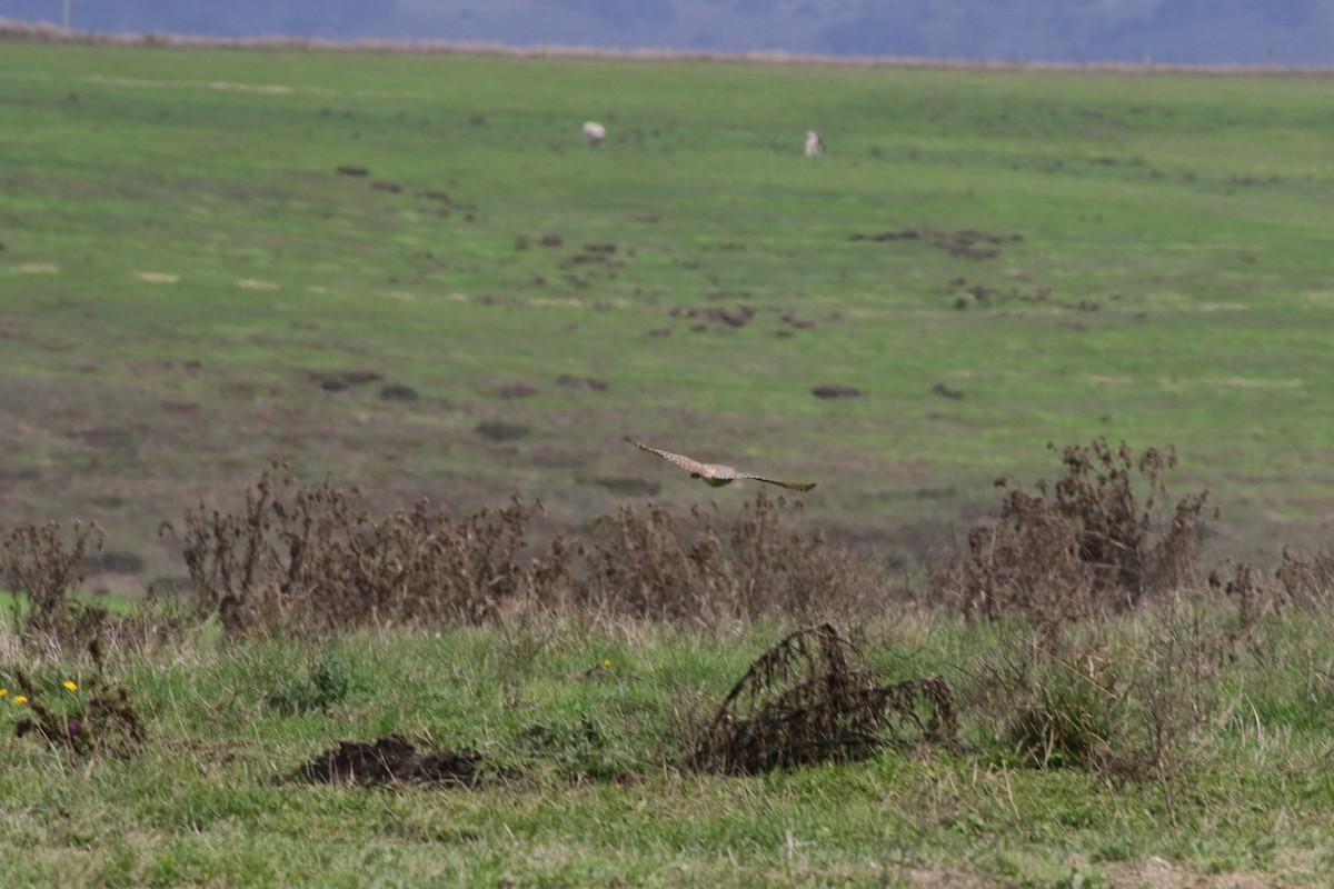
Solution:
M 823 534 L 786 529 L 800 501 L 759 493 L 730 528 L 691 509 L 688 530 L 667 509 L 603 516 L 583 553 L 576 602 L 588 612 L 714 624 L 771 612 L 868 613 L 880 601 L 870 570 Z

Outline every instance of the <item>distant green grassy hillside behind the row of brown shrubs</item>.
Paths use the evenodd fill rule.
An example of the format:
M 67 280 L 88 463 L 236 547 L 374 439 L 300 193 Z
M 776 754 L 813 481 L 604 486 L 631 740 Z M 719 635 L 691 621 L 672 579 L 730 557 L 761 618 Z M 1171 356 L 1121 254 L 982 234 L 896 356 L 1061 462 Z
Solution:
M 1093 436 L 1175 444 L 1230 554 L 1327 528 L 1326 77 L 11 44 L 0 87 L 0 509 L 144 576 L 273 456 L 563 529 L 736 502 L 626 433 L 819 481 L 887 564 Z

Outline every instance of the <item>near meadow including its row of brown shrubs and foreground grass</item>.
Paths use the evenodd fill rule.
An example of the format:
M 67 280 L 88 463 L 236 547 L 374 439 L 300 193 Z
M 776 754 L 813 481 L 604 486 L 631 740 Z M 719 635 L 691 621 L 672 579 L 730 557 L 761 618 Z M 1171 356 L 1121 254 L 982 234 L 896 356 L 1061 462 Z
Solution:
M 375 830 L 422 880 L 667 885 L 675 861 L 747 882 L 786 862 L 816 885 L 931 861 L 1054 884 L 1146 854 L 1327 874 L 1331 557 L 1207 568 L 1207 494 L 1167 490 L 1170 449 L 1058 456 L 1054 484 L 1005 480 L 966 550 L 892 588 L 763 496 L 731 517 L 626 508 L 534 546 L 536 504 L 376 516 L 277 465 L 239 508 L 164 528 L 191 592 L 128 610 L 60 585 L 96 529 L 12 529 L 4 793 L 83 797 L 67 826 L 16 818 L 44 852 L 13 873 L 308 884 L 309 856 L 354 858 L 284 837 L 325 818 L 363 836 L 358 794 L 396 786 Z M 1273 818 L 1295 826 L 1274 837 Z M 61 856 L 92 820 L 112 825 L 93 854 Z M 916 864 L 883 858 L 886 830 Z M 112 854 L 108 832 L 157 838 Z M 570 842 L 579 862 L 538 854 Z

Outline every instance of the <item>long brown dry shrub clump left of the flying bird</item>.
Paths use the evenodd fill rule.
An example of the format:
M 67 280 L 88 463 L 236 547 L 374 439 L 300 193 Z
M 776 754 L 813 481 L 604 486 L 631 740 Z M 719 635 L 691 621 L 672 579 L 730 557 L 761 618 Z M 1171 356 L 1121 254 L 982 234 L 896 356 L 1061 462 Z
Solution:
M 356 489 L 276 464 L 241 512 L 187 512 L 183 554 L 199 609 L 228 632 L 479 622 L 564 573 L 559 540 L 527 557 L 534 509 L 515 498 L 456 520 L 423 501 L 376 520 Z

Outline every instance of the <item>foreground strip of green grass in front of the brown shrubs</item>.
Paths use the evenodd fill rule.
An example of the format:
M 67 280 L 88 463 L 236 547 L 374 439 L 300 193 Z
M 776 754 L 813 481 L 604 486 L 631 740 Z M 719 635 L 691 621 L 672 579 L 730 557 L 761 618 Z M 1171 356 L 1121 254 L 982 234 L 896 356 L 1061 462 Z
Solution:
M 1218 626 L 1210 609 L 1178 617 Z M 1263 658 L 1211 669 L 1191 693 L 1209 716 L 1173 754 L 1170 804 L 1153 780 L 1014 756 L 988 668 L 1013 664 L 1022 633 L 999 624 L 904 617 L 863 636 L 886 680 L 946 678 L 958 744 L 758 778 L 682 761 L 690 726 L 782 634 L 772 622 L 168 637 L 112 658 L 147 725 L 133 758 L 0 742 L 0 874 L 9 886 L 1327 885 L 1334 649 L 1327 612 L 1294 617 L 1255 634 Z M 1163 641 L 1179 641 L 1162 612 L 1099 632 L 1099 654 L 1127 674 L 1165 666 Z M 28 670 L 51 706 L 87 696 L 87 658 Z M 320 670 L 342 677 L 338 694 L 301 706 Z M 13 690 L 5 729 L 29 706 Z M 480 790 L 289 780 L 339 740 L 390 732 L 480 749 L 511 777 Z M 1121 754 L 1142 742 L 1129 728 L 1115 737 Z

